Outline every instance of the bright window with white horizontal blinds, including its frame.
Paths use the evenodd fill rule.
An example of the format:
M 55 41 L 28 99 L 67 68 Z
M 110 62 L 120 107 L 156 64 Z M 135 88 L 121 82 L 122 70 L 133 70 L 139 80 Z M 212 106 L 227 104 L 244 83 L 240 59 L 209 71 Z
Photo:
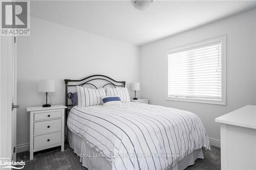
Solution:
M 166 51 L 167 100 L 226 104 L 226 36 Z

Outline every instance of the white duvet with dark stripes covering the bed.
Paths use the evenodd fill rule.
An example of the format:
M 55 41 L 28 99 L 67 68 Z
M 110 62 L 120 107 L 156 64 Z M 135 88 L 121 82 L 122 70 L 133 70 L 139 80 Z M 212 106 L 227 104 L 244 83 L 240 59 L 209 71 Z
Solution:
M 162 106 L 75 106 L 67 126 L 118 170 L 166 169 L 196 149 L 210 148 L 197 115 Z

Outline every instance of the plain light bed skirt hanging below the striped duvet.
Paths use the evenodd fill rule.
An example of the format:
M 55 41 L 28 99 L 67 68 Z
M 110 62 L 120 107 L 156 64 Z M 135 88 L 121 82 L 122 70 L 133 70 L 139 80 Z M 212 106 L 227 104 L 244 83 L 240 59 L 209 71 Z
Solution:
M 67 128 L 67 130 L 70 148 L 72 148 L 74 153 L 80 157 L 80 162 L 84 167 L 87 167 L 89 170 L 112 169 L 111 163 L 104 157 L 100 157 L 98 151 L 91 148 L 84 139 L 71 132 L 69 128 Z M 167 170 L 183 170 L 187 166 L 193 165 L 198 158 L 204 158 L 202 149 L 195 150 L 193 153 L 188 154 L 175 166 L 170 167 Z

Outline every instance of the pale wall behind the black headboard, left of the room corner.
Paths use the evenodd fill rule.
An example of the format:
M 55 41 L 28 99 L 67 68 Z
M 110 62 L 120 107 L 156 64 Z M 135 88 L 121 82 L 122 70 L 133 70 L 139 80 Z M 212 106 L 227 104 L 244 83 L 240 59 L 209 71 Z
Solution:
M 17 145 L 29 143 L 28 106 L 42 104 L 39 79 L 54 79 L 53 104 L 65 104 L 64 79 L 103 74 L 138 82 L 140 47 L 31 17 L 31 34 L 17 39 Z

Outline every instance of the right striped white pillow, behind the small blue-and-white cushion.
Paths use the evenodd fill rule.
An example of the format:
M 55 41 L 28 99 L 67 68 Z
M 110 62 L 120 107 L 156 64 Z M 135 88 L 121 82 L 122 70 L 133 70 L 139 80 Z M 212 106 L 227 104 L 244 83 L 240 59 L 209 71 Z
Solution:
M 106 88 L 107 96 L 119 96 L 122 103 L 130 102 L 129 92 L 126 87 L 121 88 Z

